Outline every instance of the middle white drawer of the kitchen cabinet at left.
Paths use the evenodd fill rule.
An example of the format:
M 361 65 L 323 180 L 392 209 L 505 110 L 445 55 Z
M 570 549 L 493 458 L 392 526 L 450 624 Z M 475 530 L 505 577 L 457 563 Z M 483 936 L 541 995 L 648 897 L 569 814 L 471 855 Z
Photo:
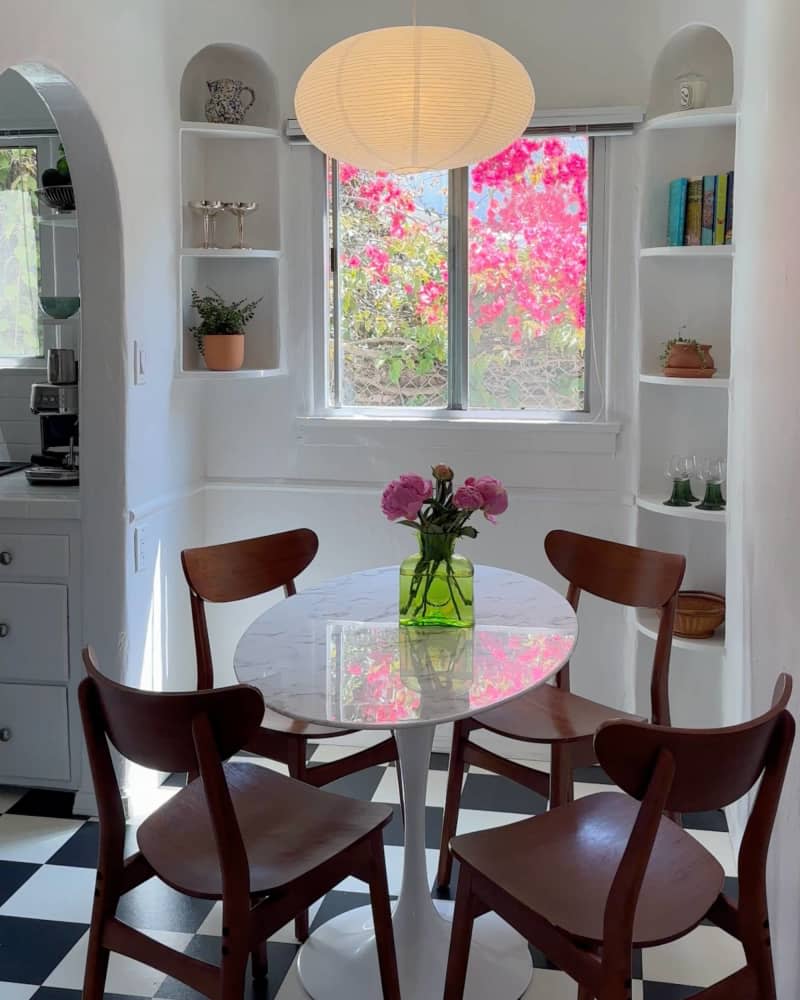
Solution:
M 0 681 L 68 677 L 67 588 L 0 583 Z

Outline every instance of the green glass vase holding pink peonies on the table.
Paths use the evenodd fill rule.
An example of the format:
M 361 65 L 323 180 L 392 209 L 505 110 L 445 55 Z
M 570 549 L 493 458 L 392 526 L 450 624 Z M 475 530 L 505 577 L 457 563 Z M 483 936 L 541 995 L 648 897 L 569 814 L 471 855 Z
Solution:
M 400 624 L 452 625 L 475 623 L 475 567 L 453 551 L 456 535 L 419 532 L 419 554 L 400 564 Z

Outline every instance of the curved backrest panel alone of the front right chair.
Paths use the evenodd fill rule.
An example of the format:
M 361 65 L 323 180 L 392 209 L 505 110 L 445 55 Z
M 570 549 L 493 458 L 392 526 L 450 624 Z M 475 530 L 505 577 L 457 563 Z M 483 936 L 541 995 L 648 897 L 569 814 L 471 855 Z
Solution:
M 597 730 L 595 752 L 610 778 L 634 798 L 647 791 L 659 754 L 675 775 L 666 808 L 673 812 L 722 809 L 750 791 L 770 759 L 775 734 L 789 713 L 792 680 L 781 674 L 768 712 L 726 729 L 676 729 L 642 722 L 607 722 Z

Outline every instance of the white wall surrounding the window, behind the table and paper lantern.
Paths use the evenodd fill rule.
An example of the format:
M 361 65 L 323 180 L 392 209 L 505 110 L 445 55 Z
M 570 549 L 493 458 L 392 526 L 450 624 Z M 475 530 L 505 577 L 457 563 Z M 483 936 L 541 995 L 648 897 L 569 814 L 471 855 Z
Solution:
M 541 108 L 646 103 L 659 38 L 648 36 L 642 45 L 643 21 L 634 0 L 602 5 L 504 0 L 500 7 L 477 0 L 426 0 L 419 5 L 419 15 L 421 21 L 463 27 L 507 46 L 530 70 Z M 279 75 L 283 117 L 294 114 L 296 81 L 322 49 L 354 32 L 396 23 L 402 13 L 394 0 L 347 0 L 335 7 L 319 0 L 292 4 L 286 63 Z M 437 461 L 447 461 L 459 475 L 500 476 L 511 491 L 508 516 L 496 527 L 487 525 L 475 544 L 464 543 L 478 561 L 563 586 L 543 555 L 547 531 L 568 527 L 629 539 L 633 463 L 627 422 L 633 412 L 635 307 L 631 185 L 636 183 L 632 148 L 632 140 L 620 139 L 612 143 L 609 155 L 608 246 L 615 294 L 607 304 L 605 376 L 608 416 L 622 422 L 623 432 L 615 451 L 599 454 L 593 452 L 591 440 L 576 440 L 568 431 L 554 441 L 537 428 L 520 432 L 496 426 L 476 433 L 462 426 L 431 432 L 400 425 L 354 431 L 304 424 L 302 418 L 313 407 L 314 338 L 321 334 L 324 308 L 323 297 L 315 298 L 310 287 L 308 263 L 322 260 L 322 181 L 318 154 L 302 147 L 284 150 L 282 318 L 289 374 L 213 390 L 207 452 L 207 472 L 214 483 L 207 499 L 209 539 L 299 524 L 314 527 L 321 547 L 307 574 L 309 582 L 396 562 L 408 554 L 413 539 L 383 520 L 381 488 L 399 472 L 424 471 Z M 592 639 L 576 657 L 576 687 L 631 707 L 632 668 L 622 666 L 629 640 L 624 616 L 590 601 L 584 610 L 584 634 Z M 218 663 L 228 664 L 236 637 L 255 611 L 216 611 L 212 639 Z

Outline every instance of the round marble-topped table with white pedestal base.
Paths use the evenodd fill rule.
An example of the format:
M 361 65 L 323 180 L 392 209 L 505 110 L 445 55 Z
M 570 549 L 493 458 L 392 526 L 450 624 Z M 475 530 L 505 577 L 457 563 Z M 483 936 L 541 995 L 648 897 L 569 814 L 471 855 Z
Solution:
M 394 907 L 401 992 L 440 1000 L 452 903 L 432 900 L 425 867 L 425 788 L 437 723 L 499 705 L 543 684 L 577 638 L 572 608 L 530 577 L 478 566 L 471 629 L 398 624 L 397 567 L 331 580 L 256 619 L 234 658 L 240 681 L 291 718 L 392 729 L 405 803 L 403 878 Z M 314 1000 L 380 1000 L 369 907 L 315 931 L 298 956 Z M 494 914 L 475 923 L 467 1000 L 517 1000 L 532 974 L 526 942 Z

